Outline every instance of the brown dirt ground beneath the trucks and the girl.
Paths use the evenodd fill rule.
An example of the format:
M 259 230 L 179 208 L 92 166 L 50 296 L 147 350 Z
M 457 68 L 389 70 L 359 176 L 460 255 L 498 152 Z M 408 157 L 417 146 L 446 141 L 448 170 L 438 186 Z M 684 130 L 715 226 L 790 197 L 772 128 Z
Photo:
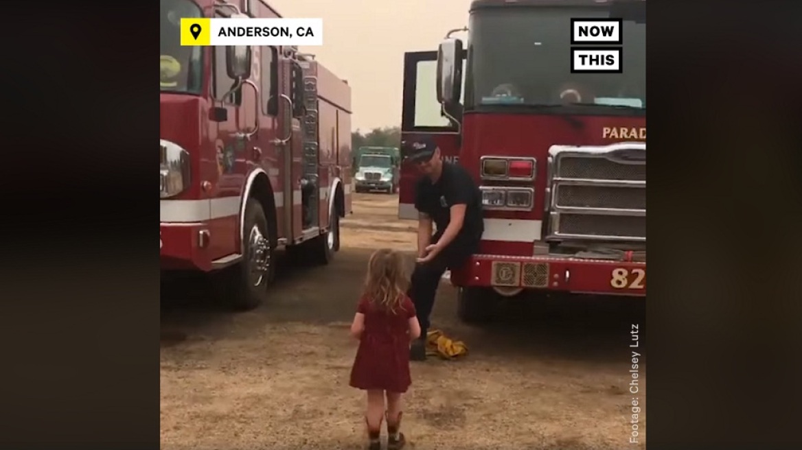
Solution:
M 161 448 L 363 448 L 348 326 L 371 250 L 414 250 L 415 223 L 397 219 L 397 205 L 396 195 L 354 195 L 334 262 L 283 268 L 256 311 L 221 311 L 203 283 L 163 288 Z M 433 326 L 470 353 L 412 364 L 407 448 L 646 448 L 644 300 L 512 299 L 491 325 L 469 327 L 455 298 L 444 280 Z

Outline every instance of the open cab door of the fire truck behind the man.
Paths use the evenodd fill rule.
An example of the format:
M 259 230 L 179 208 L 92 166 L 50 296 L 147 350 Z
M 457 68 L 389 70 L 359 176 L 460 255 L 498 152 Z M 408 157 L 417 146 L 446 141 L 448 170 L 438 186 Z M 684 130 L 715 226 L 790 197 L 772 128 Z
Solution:
M 465 70 L 463 77 L 464 74 Z M 429 135 L 437 143 L 443 159 L 459 163 L 460 131 L 442 115 L 442 107 L 437 102 L 436 80 L 436 51 L 404 54 L 401 140 L 410 141 Z M 418 219 L 418 212 L 415 211 L 415 181 L 419 176 L 414 165 L 408 161 L 401 163 L 399 219 Z

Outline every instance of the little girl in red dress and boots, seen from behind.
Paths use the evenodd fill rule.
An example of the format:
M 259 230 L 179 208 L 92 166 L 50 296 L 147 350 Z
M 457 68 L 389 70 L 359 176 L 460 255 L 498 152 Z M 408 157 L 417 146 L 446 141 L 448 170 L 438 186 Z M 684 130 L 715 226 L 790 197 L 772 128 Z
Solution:
M 387 449 L 399 450 L 406 440 L 401 427 L 401 395 L 411 382 L 409 346 L 420 335 L 415 305 L 406 295 L 403 256 L 390 249 L 371 255 L 351 335 L 359 349 L 351 368 L 350 385 L 367 391 L 369 450 L 379 450 L 382 421 L 387 418 Z M 387 397 L 387 409 L 384 400 Z

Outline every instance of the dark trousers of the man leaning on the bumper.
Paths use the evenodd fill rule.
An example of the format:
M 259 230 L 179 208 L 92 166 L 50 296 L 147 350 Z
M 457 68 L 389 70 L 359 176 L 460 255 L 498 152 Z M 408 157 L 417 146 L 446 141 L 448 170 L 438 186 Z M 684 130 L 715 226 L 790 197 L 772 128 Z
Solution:
M 476 245 L 451 243 L 431 261 L 415 264 L 407 295 L 415 303 L 422 338 L 425 339 L 429 329 L 429 315 L 431 308 L 435 306 L 435 295 L 443 274 L 447 269 L 456 270 L 462 267 L 475 251 Z

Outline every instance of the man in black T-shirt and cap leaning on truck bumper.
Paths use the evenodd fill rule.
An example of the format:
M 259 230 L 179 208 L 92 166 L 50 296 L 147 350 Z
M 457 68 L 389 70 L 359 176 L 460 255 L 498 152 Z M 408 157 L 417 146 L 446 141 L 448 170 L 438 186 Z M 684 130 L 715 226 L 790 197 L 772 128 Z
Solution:
M 415 303 L 422 332 L 410 348 L 411 360 L 426 359 L 429 315 L 440 279 L 479 251 L 484 231 L 482 196 L 468 171 L 445 162 L 431 138 L 402 143 L 404 157 L 420 171 L 415 184 L 418 210 L 418 257 L 412 272 L 409 297 Z M 432 234 L 432 225 L 436 231 Z

